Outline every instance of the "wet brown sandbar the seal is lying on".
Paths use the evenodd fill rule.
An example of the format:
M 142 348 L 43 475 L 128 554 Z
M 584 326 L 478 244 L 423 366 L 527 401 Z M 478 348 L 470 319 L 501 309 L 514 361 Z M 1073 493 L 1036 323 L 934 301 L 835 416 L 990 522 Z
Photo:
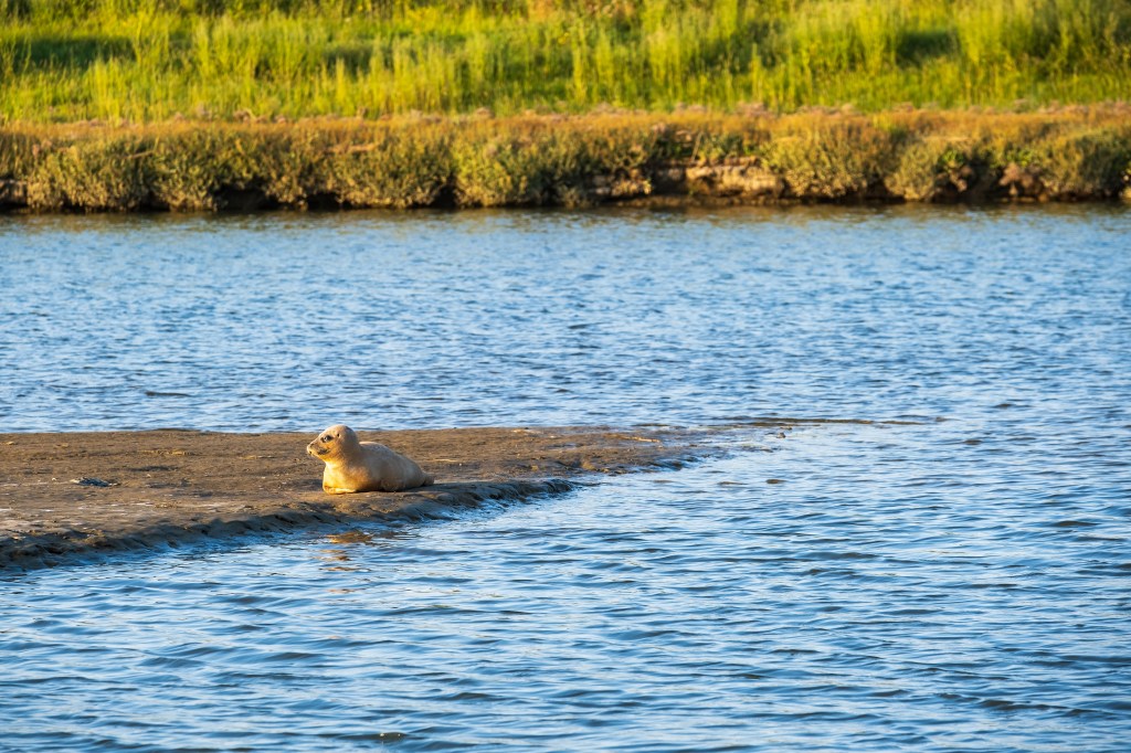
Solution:
M 440 517 L 485 500 L 563 493 L 601 474 L 673 468 L 708 452 L 684 430 L 608 427 L 359 432 L 437 484 L 330 495 L 313 434 L 182 430 L 0 434 L 0 569 L 201 538 Z

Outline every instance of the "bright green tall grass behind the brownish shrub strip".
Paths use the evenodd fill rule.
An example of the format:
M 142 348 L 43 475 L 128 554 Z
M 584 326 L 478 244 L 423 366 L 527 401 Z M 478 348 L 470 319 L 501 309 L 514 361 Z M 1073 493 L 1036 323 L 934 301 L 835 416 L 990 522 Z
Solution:
M 9 122 L 1126 99 L 1126 0 L 0 0 Z

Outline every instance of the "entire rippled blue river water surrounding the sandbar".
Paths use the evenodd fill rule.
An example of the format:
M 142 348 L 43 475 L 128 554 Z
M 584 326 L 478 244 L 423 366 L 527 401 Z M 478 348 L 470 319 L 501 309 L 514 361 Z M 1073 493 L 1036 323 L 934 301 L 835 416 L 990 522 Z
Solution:
M 729 450 L 0 574 L 0 750 L 1128 750 L 1126 208 L 7 217 L 0 291 L 6 431 Z

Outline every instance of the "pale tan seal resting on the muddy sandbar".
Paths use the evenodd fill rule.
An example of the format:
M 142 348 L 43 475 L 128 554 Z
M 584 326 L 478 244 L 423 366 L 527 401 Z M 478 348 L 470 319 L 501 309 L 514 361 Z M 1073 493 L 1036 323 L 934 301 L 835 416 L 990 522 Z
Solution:
M 307 452 L 326 462 L 322 491 L 327 494 L 400 492 L 435 483 L 414 461 L 383 444 L 360 442 L 354 430 L 343 424 L 319 434 Z

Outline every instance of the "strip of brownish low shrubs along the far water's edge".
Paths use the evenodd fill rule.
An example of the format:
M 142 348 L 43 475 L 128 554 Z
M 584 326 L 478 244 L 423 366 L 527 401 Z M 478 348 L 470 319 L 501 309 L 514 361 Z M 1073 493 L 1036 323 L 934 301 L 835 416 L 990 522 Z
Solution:
M 0 129 L 33 210 L 1128 196 L 1131 107 L 320 119 Z

